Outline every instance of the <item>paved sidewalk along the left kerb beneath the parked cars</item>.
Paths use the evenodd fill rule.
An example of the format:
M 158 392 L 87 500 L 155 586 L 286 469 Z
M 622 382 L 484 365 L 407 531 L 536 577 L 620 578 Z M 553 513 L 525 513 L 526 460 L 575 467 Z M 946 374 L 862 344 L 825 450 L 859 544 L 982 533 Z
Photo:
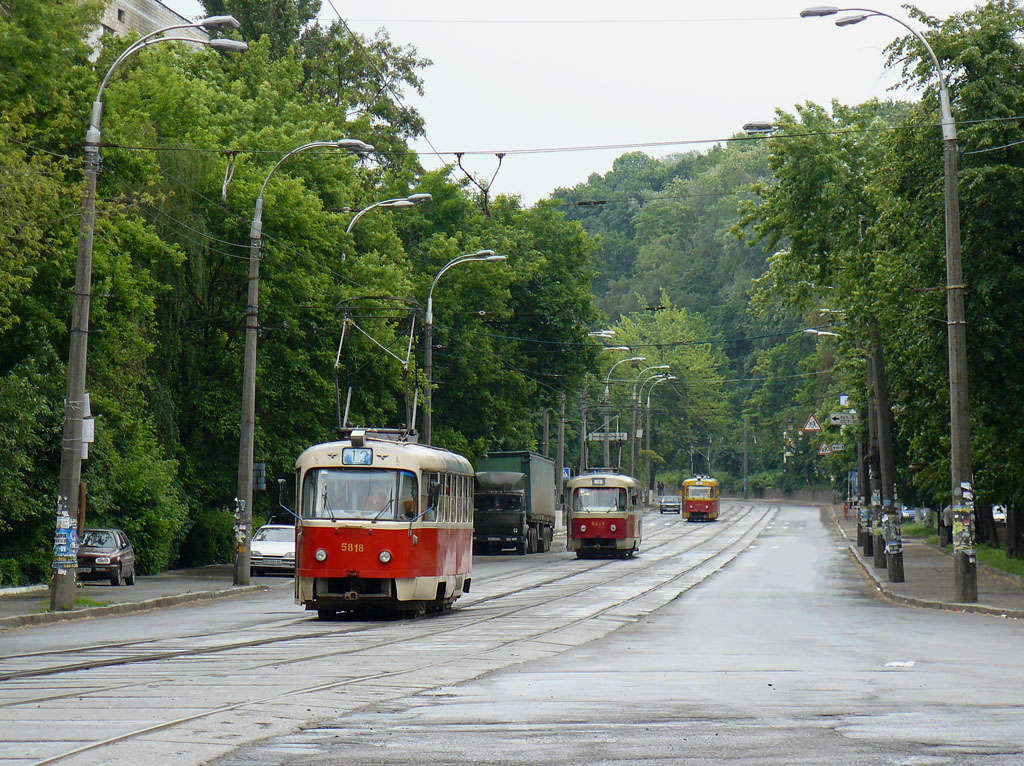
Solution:
M 231 598 L 257 593 L 286 585 L 292 578 L 254 578 L 252 585 L 232 586 L 230 564 L 176 569 L 153 577 L 139 576 L 135 585 L 111 586 L 87 581 L 76 589 L 76 600 L 89 605 L 76 606 L 71 611 L 49 611 L 50 590 L 47 586 L 0 589 L 0 631 L 46 625 L 67 620 L 84 620 L 109 614 L 128 614 L 147 609 L 162 609 L 193 601 Z

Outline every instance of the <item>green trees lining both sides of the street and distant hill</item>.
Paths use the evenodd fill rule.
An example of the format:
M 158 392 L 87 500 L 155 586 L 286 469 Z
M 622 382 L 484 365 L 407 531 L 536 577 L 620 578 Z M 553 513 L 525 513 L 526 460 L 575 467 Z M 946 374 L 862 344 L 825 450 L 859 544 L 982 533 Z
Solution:
M 564 405 L 577 470 L 584 423 L 600 430 L 607 412 L 617 432 L 643 429 L 634 450 L 609 452 L 645 480 L 648 466 L 670 486 L 707 472 L 736 493 L 745 453 L 754 495 L 845 495 L 865 418 L 827 421 L 866 412 L 877 327 L 899 497 L 948 502 L 941 136 L 936 73 L 913 38 L 893 41 L 889 65 L 918 103 L 780 109 L 770 135 L 629 153 L 526 207 L 480 195 L 457 167 L 425 172 L 409 145 L 426 126 L 403 95 L 430 62 L 383 31 L 316 26 L 317 6 L 208 0 L 240 18 L 249 52 L 154 46 L 105 91 L 87 379 L 97 427 L 83 481 L 90 523 L 126 529 L 140 572 L 230 556 L 254 201 L 286 153 L 340 137 L 377 151 L 308 153 L 265 192 L 255 459 L 270 487 L 334 437 L 349 387 L 350 422 L 408 424 L 431 282 L 490 249 L 508 261 L 453 269 L 435 294 L 434 443 L 471 458 L 540 449 L 542 412 Z M 49 574 L 81 141 L 130 42 L 103 37 L 94 57 L 99 10 L 0 5 L 0 585 Z M 1024 12 L 910 14 L 951 73 L 959 123 L 978 536 L 995 542 L 989 509 L 1007 505 L 1005 554 L 1019 560 Z M 433 200 L 346 231 L 355 211 L 414 192 Z M 357 333 L 336 370 L 346 316 L 392 350 L 415 321 L 408 376 Z M 612 371 L 629 354 L 602 346 L 644 358 Z M 656 374 L 674 380 L 653 385 Z M 803 429 L 811 416 L 821 433 Z M 842 449 L 822 456 L 822 443 Z M 590 450 L 590 465 L 603 461 L 599 442 Z M 272 514 L 275 490 L 254 505 Z

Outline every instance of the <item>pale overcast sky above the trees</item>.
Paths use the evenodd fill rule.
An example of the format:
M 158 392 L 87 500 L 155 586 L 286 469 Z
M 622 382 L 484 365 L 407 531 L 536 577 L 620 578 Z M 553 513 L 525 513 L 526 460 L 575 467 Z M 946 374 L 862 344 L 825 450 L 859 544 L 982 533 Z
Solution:
M 198 0 L 164 2 L 187 17 L 202 13 Z M 463 152 L 466 169 L 487 182 L 495 154 L 508 153 L 493 194 L 532 204 L 636 148 L 654 157 L 702 150 L 776 109 L 891 97 L 896 78 L 883 49 L 903 28 L 888 18 L 843 29 L 837 16 L 800 18 L 809 4 L 324 0 L 321 18 L 341 13 L 367 36 L 384 27 L 433 61 L 422 73 L 424 97 L 404 98 L 426 119 L 429 144 L 414 143 L 426 167 L 442 162 L 431 145 L 443 162 Z M 939 17 L 977 4 L 919 3 Z M 908 20 L 898 2 L 870 5 Z

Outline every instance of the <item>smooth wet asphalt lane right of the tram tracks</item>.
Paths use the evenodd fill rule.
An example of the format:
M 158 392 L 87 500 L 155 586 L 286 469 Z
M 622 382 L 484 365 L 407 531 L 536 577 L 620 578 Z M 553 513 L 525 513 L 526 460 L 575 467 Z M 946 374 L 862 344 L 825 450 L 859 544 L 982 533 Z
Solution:
M 788 506 L 635 624 L 216 763 L 1019 765 L 1022 656 L 1020 621 L 873 598 Z

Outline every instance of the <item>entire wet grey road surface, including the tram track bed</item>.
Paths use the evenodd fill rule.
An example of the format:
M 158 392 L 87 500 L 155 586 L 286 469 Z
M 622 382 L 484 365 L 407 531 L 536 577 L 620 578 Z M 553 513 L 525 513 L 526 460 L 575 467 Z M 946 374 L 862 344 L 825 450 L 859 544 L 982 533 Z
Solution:
M 1024 623 L 879 600 L 821 516 L 649 514 L 634 559 L 480 558 L 424 620 L 280 580 L 10 631 L 0 765 L 1024 762 Z

